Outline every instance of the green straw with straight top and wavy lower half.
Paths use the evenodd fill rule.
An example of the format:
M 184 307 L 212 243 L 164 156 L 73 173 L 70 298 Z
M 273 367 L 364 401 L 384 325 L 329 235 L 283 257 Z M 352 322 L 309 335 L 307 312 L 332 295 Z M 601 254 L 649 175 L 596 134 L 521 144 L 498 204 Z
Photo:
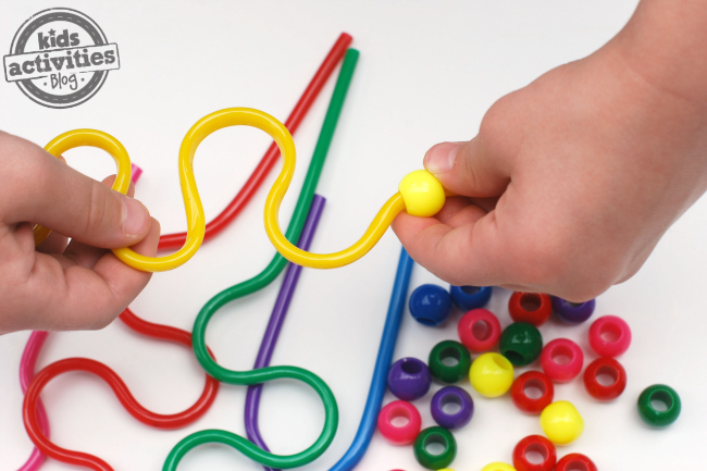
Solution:
M 328 151 L 336 128 L 336 123 L 338 122 L 344 106 L 344 99 L 346 98 L 346 92 L 354 75 L 357 60 L 358 51 L 349 49 L 344 58 L 342 71 L 338 80 L 336 82 L 336 87 L 334 88 L 334 95 L 332 96 L 332 101 L 330 102 L 326 117 L 322 125 L 322 132 L 320 133 L 314 154 L 312 156 L 309 171 L 307 172 L 302 185 L 302 190 L 299 195 L 295 212 L 287 228 L 287 237 L 293 240 L 297 239 L 302 231 L 307 208 L 309 208 L 313 198 L 314 189 L 319 182 L 326 152 Z M 273 379 L 294 377 L 294 374 L 298 373 L 297 379 L 306 382 L 312 387 L 314 387 L 314 382 L 321 382 L 321 380 L 312 373 L 300 369 L 293 369 L 292 367 L 270 367 L 262 370 L 245 372 L 232 371 L 219 365 L 208 355 L 206 355 L 206 330 L 209 321 L 219 309 L 232 300 L 247 296 L 269 285 L 283 271 L 286 264 L 287 261 L 281 255 L 276 253 L 270 264 L 262 272 L 246 282 L 224 289 L 211 298 L 199 312 L 194 324 L 194 352 L 199 360 L 199 363 L 201 363 L 201 367 L 203 367 L 203 369 L 213 377 L 216 377 L 219 381 L 224 383 L 250 385 L 263 383 Z M 324 387 L 326 386 L 323 382 L 321 384 Z M 325 422 L 322 435 L 317 443 L 310 446 L 307 450 L 293 456 L 272 455 L 261 450 L 251 442 L 248 442 L 231 432 L 222 430 L 204 430 L 194 433 L 179 442 L 168 456 L 162 468 L 163 471 L 175 471 L 182 458 L 190 449 L 207 443 L 222 443 L 230 445 L 249 458 L 269 467 L 293 468 L 311 462 L 330 445 L 336 432 L 336 425 L 338 422 L 336 402 L 334 396 L 331 395 L 328 387 L 326 387 L 326 389 L 315 387 L 315 389 L 324 401 Z

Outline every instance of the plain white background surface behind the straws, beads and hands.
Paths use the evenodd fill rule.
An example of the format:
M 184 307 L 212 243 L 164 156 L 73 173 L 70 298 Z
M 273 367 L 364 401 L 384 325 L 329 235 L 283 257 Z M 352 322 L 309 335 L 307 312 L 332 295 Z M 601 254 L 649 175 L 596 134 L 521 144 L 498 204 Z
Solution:
M 402 175 L 421 166 L 430 146 L 471 138 L 496 99 L 600 47 L 622 27 L 635 3 L 134 1 L 108 7 L 65 1 L 62 7 L 86 13 L 109 41 L 119 45 L 121 69 L 110 72 L 92 99 L 66 110 L 38 106 L 14 84 L 1 83 L 0 129 L 41 146 L 77 127 L 116 136 L 145 171 L 137 197 L 160 220 L 164 233 L 182 231 L 185 218 L 176 159 L 191 124 L 227 107 L 253 107 L 284 121 L 339 33 L 348 32 L 361 58 L 319 185 L 328 202 L 312 246 L 313 251 L 333 251 L 362 233 Z M 30 15 L 58 5 L 3 1 L 0 50 L 9 51 L 15 30 Z M 333 80 L 295 136 L 300 157 L 293 185 L 297 190 L 332 89 Z M 206 139 L 196 157 L 196 173 L 209 220 L 231 201 L 268 145 L 262 133 L 246 128 L 224 129 Z M 112 160 L 100 151 L 73 150 L 66 157 L 96 178 L 114 171 Z M 191 330 L 198 310 L 212 295 L 260 272 L 274 253 L 263 231 L 264 197 L 265 191 L 259 191 L 236 223 L 206 244 L 188 264 L 156 274 L 132 305 L 135 312 Z M 295 199 L 290 194 L 284 203 L 283 225 Z M 700 370 L 707 354 L 706 235 L 703 199 L 667 233 L 636 276 L 597 300 L 595 315 L 621 315 L 633 329 L 633 345 L 621 358 L 629 385 L 609 405 L 591 399 L 580 381 L 557 387 L 556 398 L 574 401 L 586 422 L 584 435 L 561 448 L 560 455 L 585 453 L 603 471 L 702 466 L 707 435 Z M 388 232 L 352 265 L 302 273 L 273 363 L 300 365 L 321 375 L 334 391 L 340 412 L 332 446 L 307 469 L 328 469 L 358 427 L 398 255 L 399 244 Z M 435 281 L 417 267 L 411 287 Z M 214 317 L 207 340 L 223 365 L 251 367 L 280 282 L 230 303 Z M 508 296 L 497 289 L 489 305 L 504 325 L 510 321 Z M 455 315 L 443 329 L 430 329 L 406 312 L 395 358 L 424 359 L 435 343 L 456 338 L 459 313 Z M 587 347 L 587 329 L 551 323 L 542 331 L 546 342 L 567 336 Z M 17 382 L 27 336 L 0 337 L 2 470 L 21 466 L 32 447 L 22 423 Z M 76 356 L 106 362 L 141 404 L 162 413 L 190 406 L 203 385 L 188 349 L 137 336 L 121 322 L 101 332 L 51 335 L 39 367 Z M 587 360 L 593 358 L 587 354 Z M 640 392 L 654 383 L 670 384 L 682 396 L 683 414 L 668 430 L 646 427 L 636 412 Z M 468 383 L 464 387 L 471 391 Z M 459 453 L 451 468 L 474 471 L 492 461 L 510 462 L 520 438 L 541 433 L 537 419 L 518 412 L 508 397 L 489 400 L 475 392 L 472 396 L 476 412 L 467 427 L 455 432 Z M 108 386 L 86 374 L 57 379 L 42 398 L 58 444 L 97 454 L 116 470 L 161 469 L 172 446 L 198 430 L 244 433 L 245 388 L 239 386 L 224 385 L 201 420 L 168 432 L 135 421 Z M 429 397 L 417 405 L 424 425 L 432 425 Z M 320 400 L 307 387 L 292 382 L 265 387 L 261 429 L 276 453 L 306 448 L 322 423 Z M 235 468 L 260 469 L 223 446 L 200 447 L 181 466 L 184 471 Z M 393 447 L 377 432 L 360 468 L 421 469 L 410 447 Z M 70 467 L 49 461 L 45 469 Z

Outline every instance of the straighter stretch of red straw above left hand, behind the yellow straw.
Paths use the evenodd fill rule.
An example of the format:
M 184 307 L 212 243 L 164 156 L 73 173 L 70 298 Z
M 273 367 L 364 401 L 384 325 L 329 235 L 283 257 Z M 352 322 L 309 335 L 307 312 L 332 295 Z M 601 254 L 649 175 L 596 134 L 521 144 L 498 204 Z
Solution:
M 324 58 L 324 61 L 307 86 L 307 89 L 299 98 L 299 101 L 297 101 L 292 113 L 289 113 L 287 121 L 285 121 L 285 126 L 292 134 L 295 134 L 299 124 L 302 122 L 302 119 L 307 115 L 312 103 L 324 87 L 324 84 L 326 84 L 328 77 L 344 58 L 346 49 L 351 44 L 351 36 L 342 33 L 326 58 Z M 218 216 L 207 224 L 203 236 L 204 241 L 221 233 L 240 213 L 256 194 L 256 190 L 258 190 L 262 185 L 263 181 L 277 162 L 278 157 L 280 148 L 277 148 L 277 145 L 273 142 L 268 148 L 268 151 L 260 163 L 258 163 L 256 170 L 253 170 L 252 174 L 248 177 L 246 184 L 240 188 L 240 191 L 238 191 L 235 198 Z M 158 249 L 178 248 L 184 245 L 185 240 L 186 233 L 164 234 L 160 236 Z

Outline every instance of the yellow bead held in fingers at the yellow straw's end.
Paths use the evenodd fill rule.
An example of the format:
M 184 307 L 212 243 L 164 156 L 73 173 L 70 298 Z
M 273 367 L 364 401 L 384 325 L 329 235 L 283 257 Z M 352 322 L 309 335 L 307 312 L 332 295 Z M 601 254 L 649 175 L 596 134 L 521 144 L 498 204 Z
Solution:
M 430 218 L 445 203 L 445 190 L 437 178 L 426 170 L 408 173 L 398 186 L 408 214 Z

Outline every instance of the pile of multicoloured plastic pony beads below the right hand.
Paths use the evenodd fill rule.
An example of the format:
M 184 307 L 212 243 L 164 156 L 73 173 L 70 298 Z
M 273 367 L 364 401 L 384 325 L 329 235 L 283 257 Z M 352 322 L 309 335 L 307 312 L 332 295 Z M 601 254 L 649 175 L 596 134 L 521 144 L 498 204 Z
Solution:
M 392 443 L 398 444 L 410 443 L 412 433 L 418 433 L 413 448 L 420 464 L 427 469 L 445 468 L 442 471 L 451 471 L 446 467 L 454 460 L 457 444 L 449 430 L 469 423 L 474 404 L 469 393 L 449 384 L 461 381 L 468 372 L 472 387 L 482 396 L 494 398 L 510 391 L 511 400 L 518 409 L 539 416 L 541 427 L 545 433 L 545 436 L 528 436 L 516 445 L 513 466 L 498 461 L 487 464 L 482 471 L 597 471 L 596 464 L 581 454 L 569 454 L 558 460 L 555 448 L 556 445 L 574 442 L 584 431 L 584 419 L 576 408 L 566 400 L 555 401 L 554 385 L 554 382 L 567 383 L 580 375 L 584 365 L 584 352 L 568 338 L 556 338 L 543 346 L 543 336 L 537 329 L 549 320 L 553 312 L 565 324 L 582 324 L 594 313 L 595 300 L 572 303 L 545 294 L 513 293 L 508 303 L 513 323 L 501 330 L 498 318 L 484 309 L 491 293 L 491 288 L 451 286 L 448 295 L 444 288 L 435 285 L 423 285 L 413 292 L 410 312 L 421 324 L 441 325 L 450 317 L 451 305 L 466 311 L 457 326 L 460 343 L 444 340 L 430 352 L 430 376 L 448 384 L 432 398 L 432 417 L 438 426 L 420 432 L 420 421 L 417 419 L 419 412 L 414 406 L 395 401 L 386 406 L 379 418 L 381 432 Z M 628 350 L 631 330 L 622 319 L 606 315 L 592 323 L 588 343 L 599 358 L 593 360 L 584 371 L 585 388 L 597 400 L 613 400 L 623 393 L 627 385 L 625 370 L 613 357 Z M 493 351 L 495 348 L 499 352 Z M 470 350 L 481 355 L 472 361 Z M 401 364 L 412 360 L 399 360 L 390 374 L 401 374 L 398 371 L 402 371 Z M 536 361 L 542 371 L 526 371 L 514 379 L 514 367 L 528 367 Z M 414 364 L 422 362 L 414 360 Z M 422 365 L 424 367 L 423 363 Z M 423 368 L 419 365 L 414 371 L 408 371 L 408 380 L 414 377 L 420 382 L 415 398 L 424 395 L 422 391 L 426 393 L 430 388 L 431 380 L 426 375 L 424 380 L 421 379 L 421 371 Z M 388 379 L 390 381 L 390 375 Z M 396 393 L 396 384 L 389 383 L 389 387 L 396 396 L 402 398 L 400 394 L 404 393 Z M 662 402 L 665 410 L 658 410 L 656 401 Z M 405 406 L 398 402 L 404 402 Z M 448 405 L 456 406 L 457 410 L 445 411 L 445 406 Z M 680 414 L 680 397 L 668 386 L 650 386 L 641 395 L 638 409 L 649 425 L 666 426 Z M 408 423 L 399 427 L 395 435 L 388 431 L 387 423 L 382 424 L 384 416 L 388 423 L 394 417 L 404 417 Z M 398 438 L 396 442 L 396 437 L 405 433 L 405 439 Z M 431 454 L 427 446 L 432 444 L 443 445 L 444 450 Z M 534 455 L 535 458 L 531 460 L 529 455 Z

